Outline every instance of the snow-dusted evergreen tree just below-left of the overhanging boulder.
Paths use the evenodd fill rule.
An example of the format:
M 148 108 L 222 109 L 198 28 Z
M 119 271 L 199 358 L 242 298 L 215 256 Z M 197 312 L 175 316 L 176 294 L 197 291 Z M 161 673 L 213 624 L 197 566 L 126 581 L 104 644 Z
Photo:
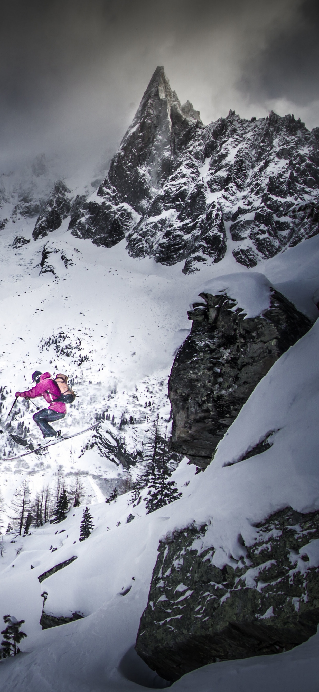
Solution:
M 148 498 L 146 499 L 146 514 L 165 507 L 166 504 L 178 500 L 182 493 L 178 492 L 175 481 L 168 480 L 171 476 L 166 463 L 155 462 L 148 483 Z

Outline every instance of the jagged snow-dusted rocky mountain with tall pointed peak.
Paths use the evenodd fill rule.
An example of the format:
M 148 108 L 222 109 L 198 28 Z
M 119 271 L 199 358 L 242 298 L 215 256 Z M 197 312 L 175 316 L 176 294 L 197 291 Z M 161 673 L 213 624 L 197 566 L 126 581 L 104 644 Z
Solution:
M 293 116 L 244 120 L 230 111 L 203 125 L 158 67 L 108 178 L 71 221 L 106 247 L 125 236 L 133 257 L 219 262 L 226 232 L 247 267 L 319 232 L 319 129 Z

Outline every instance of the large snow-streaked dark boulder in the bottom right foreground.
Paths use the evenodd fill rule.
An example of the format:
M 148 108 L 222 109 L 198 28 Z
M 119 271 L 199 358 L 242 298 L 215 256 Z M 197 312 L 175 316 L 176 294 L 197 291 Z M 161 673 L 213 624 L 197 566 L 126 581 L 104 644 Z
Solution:
M 290 507 L 256 527 L 256 540 L 222 569 L 206 526 L 162 541 L 136 650 L 166 680 L 216 661 L 280 653 L 319 623 L 319 568 L 311 542 L 319 512 Z M 200 547 L 202 545 L 202 547 Z

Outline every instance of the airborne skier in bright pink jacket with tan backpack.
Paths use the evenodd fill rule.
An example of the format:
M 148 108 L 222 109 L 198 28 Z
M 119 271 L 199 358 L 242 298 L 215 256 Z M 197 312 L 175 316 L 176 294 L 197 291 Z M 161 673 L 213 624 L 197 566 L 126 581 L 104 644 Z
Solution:
M 66 385 L 68 378 L 66 375 L 58 373 L 55 380 L 51 379 L 50 372 L 39 372 L 36 370 L 32 374 L 32 381 L 35 382 L 35 387 L 32 387 L 26 392 L 16 392 L 16 397 L 22 397 L 23 399 L 35 399 L 35 397 L 44 397 L 48 403 L 50 403 L 49 408 L 42 408 L 33 416 L 33 420 L 39 426 L 41 432 L 43 432 L 43 437 L 59 437 L 61 430 L 54 430 L 50 423 L 52 421 L 59 421 L 66 415 L 66 404 L 61 401 L 61 390 L 57 385 L 57 381 L 64 383 Z M 66 385 L 68 389 L 68 386 Z M 60 401 L 58 401 L 60 399 Z

